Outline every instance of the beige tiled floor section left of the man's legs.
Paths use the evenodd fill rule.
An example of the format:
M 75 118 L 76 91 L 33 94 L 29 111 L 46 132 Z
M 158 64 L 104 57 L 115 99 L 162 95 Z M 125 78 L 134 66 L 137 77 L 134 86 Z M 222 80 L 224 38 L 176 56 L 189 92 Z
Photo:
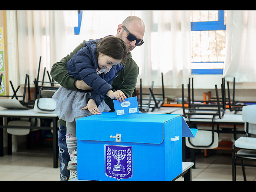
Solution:
M 60 168 L 53 168 L 53 150 L 36 146 L 0 157 L 0 181 L 59 181 Z

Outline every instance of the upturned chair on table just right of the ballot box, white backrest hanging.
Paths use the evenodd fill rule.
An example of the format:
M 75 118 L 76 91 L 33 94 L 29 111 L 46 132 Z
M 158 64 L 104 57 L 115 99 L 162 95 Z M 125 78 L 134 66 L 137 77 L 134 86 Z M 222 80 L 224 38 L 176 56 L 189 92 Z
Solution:
M 194 86 L 192 78 L 192 92 L 190 78 L 188 81 L 188 108 L 185 108 L 184 102 L 184 84 L 182 84 L 182 110 L 184 118 L 188 118 L 187 123 L 190 128 L 194 128 L 195 124 L 190 122 L 191 118 L 211 119 L 211 130 L 198 130 L 195 138 L 186 138 L 186 146 L 192 149 L 191 160 L 194 162 L 195 168 L 195 149 L 213 149 L 218 147 L 219 136 L 214 130 L 214 119 L 222 118 L 226 109 L 225 98 L 225 80 L 222 78 L 222 99 L 219 98 L 218 88 L 215 85 L 216 99 L 213 100 L 194 100 Z M 192 99 L 191 99 L 192 94 Z

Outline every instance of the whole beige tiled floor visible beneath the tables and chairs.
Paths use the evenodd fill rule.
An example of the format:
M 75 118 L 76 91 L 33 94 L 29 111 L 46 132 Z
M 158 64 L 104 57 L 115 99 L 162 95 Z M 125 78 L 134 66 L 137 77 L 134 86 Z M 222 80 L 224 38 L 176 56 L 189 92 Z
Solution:
M 0 157 L 0 181 L 59 181 L 59 174 L 59 168 L 53 168 L 52 149 L 45 145 Z M 248 181 L 256 181 L 256 168 L 246 168 L 246 176 Z M 237 180 L 243 180 L 240 167 Z M 204 157 L 197 153 L 192 181 L 232 181 L 231 154 Z

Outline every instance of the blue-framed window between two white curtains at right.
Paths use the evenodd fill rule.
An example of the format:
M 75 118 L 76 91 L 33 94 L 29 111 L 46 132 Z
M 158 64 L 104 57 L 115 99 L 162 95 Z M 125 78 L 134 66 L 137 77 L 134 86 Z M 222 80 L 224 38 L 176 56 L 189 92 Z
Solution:
M 225 58 L 224 11 L 191 11 L 192 74 L 222 74 Z

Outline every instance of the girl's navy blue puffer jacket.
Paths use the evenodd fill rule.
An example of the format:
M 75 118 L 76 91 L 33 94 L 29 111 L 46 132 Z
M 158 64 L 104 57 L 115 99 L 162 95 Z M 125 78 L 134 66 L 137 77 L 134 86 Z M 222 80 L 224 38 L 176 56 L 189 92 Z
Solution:
M 112 82 L 118 73 L 124 70 L 122 64 L 115 65 L 106 74 L 96 74 L 98 67 L 96 41 L 90 40 L 84 44 L 74 56 L 68 61 L 68 74 L 77 80 L 83 80 L 93 90 L 81 90 L 83 92 L 92 92 L 90 98 L 94 99 L 97 106 L 104 100 L 109 90 L 112 90 Z M 90 99 L 89 98 L 89 99 Z M 87 101 L 88 102 L 88 101 Z

